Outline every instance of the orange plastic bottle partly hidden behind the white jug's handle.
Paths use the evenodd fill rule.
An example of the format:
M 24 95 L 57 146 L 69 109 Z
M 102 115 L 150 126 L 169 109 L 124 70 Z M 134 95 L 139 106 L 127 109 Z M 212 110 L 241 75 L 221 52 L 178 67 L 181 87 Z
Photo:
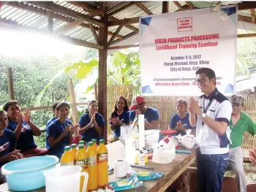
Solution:
M 88 172 L 88 155 L 86 153 L 84 145 L 79 145 L 78 146 L 78 153 L 75 155 L 75 165 L 82 167 L 81 172 Z M 84 182 L 84 177 L 81 176 L 81 178 L 80 178 L 80 192 L 83 191 L 83 182 Z M 87 184 L 86 191 L 89 191 L 88 184 Z

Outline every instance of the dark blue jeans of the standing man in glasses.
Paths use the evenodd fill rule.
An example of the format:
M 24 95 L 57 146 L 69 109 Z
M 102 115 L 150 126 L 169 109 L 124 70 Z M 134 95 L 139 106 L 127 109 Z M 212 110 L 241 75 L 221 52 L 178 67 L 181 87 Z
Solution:
M 229 153 L 205 155 L 197 148 L 197 177 L 199 192 L 221 192 L 227 170 Z

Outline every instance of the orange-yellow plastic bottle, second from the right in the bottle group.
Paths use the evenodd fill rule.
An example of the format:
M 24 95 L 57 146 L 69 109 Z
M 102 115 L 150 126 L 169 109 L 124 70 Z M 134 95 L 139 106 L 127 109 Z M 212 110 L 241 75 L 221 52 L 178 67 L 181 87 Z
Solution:
M 89 190 L 95 190 L 98 187 L 97 175 L 97 150 L 93 147 L 94 143 L 89 142 L 89 147 L 86 150 L 88 154 L 88 173 L 89 173 Z

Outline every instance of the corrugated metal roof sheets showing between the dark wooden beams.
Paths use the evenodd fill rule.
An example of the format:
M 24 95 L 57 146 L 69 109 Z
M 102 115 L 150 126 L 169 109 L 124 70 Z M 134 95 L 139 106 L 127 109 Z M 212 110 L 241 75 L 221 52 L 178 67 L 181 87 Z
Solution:
M 88 12 L 86 12 L 83 8 L 75 6 L 73 4 L 70 4 L 67 1 L 53 1 L 55 4 L 58 4 L 62 7 L 66 7 L 68 9 L 71 9 L 75 12 L 79 12 L 80 14 L 87 15 Z M 222 5 L 225 4 L 237 4 L 239 1 L 222 1 Z M 18 2 L 17 2 L 18 3 Z M 83 1 L 81 1 L 83 3 Z M 141 2 L 145 7 L 147 7 L 151 12 L 154 13 L 154 15 L 161 14 L 162 12 L 162 1 L 145 1 Z M 181 6 L 186 5 L 186 1 L 179 1 Z M 192 1 L 195 7 L 197 8 L 206 8 L 211 7 L 211 1 Z M 20 2 L 20 4 L 25 4 L 26 6 L 32 6 L 37 7 L 34 5 L 31 5 L 26 2 Z M 89 6 L 93 9 L 97 9 L 97 7 L 102 6 L 101 1 L 86 1 L 86 4 L 89 4 Z M 129 4 L 129 1 L 108 1 L 107 7 L 108 10 L 113 9 L 113 7 L 118 6 L 122 7 Z M 37 7 L 38 8 L 38 7 Z M 12 7 L 10 4 L 5 4 L 3 7 L 1 7 L 0 10 L 0 17 L 6 20 L 12 20 L 17 22 L 20 25 L 28 26 L 31 28 L 38 28 L 42 31 L 47 31 L 48 28 L 48 17 L 45 15 L 46 9 L 41 9 L 44 13 L 37 13 L 37 12 L 29 12 L 28 10 L 23 10 L 17 7 Z M 178 11 L 178 7 L 176 4 L 173 3 L 173 1 L 169 1 L 169 12 L 176 12 Z M 244 15 L 251 17 L 249 10 L 243 10 L 238 12 L 239 15 Z M 63 15 L 63 14 L 59 14 Z M 121 12 L 118 12 L 114 15 L 112 15 L 113 18 L 117 19 L 124 19 L 124 18 L 135 18 L 135 17 L 141 17 L 146 16 L 146 13 L 143 12 L 139 7 L 137 7 L 135 4 L 127 7 L 124 10 L 121 10 Z M 96 19 L 99 19 L 98 16 L 95 17 Z M 67 20 L 65 22 L 64 20 Z M 59 20 L 54 18 L 53 19 L 53 31 L 56 31 L 58 28 L 61 28 L 61 26 L 66 25 L 70 21 L 74 20 L 74 18 L 71 18 L 67 16 L 64 20 Z M 85 22 L 86 23 L 86 22 Z M 139 23 L 132 23 L 131 26 L 134 26 L 135 28 L 139 28 Z M 108 31 L 111 31 L 114 33 L 118 26 L 110 26 L 108 28 Z M 119 35 L 126 36 L 127 34 L 132 33 L 133 31 L 130 30 L 127 27 L 121 28 L 121 31 L 119 32 Z M 82 40 L 85 42 L 91 42 L 96 43 L 93 34 L 91 33 L 91 29 L 84 28 L 81 26 L 76 26 L 75 28 L 70 29 L 69 31 L 66 31 L 64 36 L 71 37 L 73 39 Z M 108 39 L 110 39 L 110 36 L 108 36 Z

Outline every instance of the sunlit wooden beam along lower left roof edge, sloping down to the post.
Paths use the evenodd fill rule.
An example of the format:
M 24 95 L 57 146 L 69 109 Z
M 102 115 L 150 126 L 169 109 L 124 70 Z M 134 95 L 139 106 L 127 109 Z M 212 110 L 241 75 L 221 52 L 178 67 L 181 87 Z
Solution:
M 72 44 L 75 44 L 75 45 L 81 45 L 81 46 L 91 47 L 91 48 L 95 48 L 95 49 L 103 49 L 103 46 L 101 46 L 101 45 L 96 45 L 96 44 L 91 43 L 91 42 L 80 41 L 78 39 L 73 39 L 71 37 L 65 37 L 65 36 L 62 36 L 62 35 L 60 35 L 60 36 L 56 36 L 54 34 L 50 35 L 48 33 L 48 31 L 42 31 L 42 30 L 39 30 L 37 28 L 21 26 L 17 22 L 12 21 L 12 20 L 6 20 L 6 19 L 0 18 L 0 23 L 4 24 L 4 26 L 2 26 L 2 28 L 12 29 L 12 30 L 15 30 L 15 31 L 20 30 L 20 31 L 36 32 L 38 34 L 49 35 L 49 36 L 52 36 L 52 37 L 54 37 L 56 39 L 59 39 L 61 41 L 69 42 L 69 43 L 72 43 Z

